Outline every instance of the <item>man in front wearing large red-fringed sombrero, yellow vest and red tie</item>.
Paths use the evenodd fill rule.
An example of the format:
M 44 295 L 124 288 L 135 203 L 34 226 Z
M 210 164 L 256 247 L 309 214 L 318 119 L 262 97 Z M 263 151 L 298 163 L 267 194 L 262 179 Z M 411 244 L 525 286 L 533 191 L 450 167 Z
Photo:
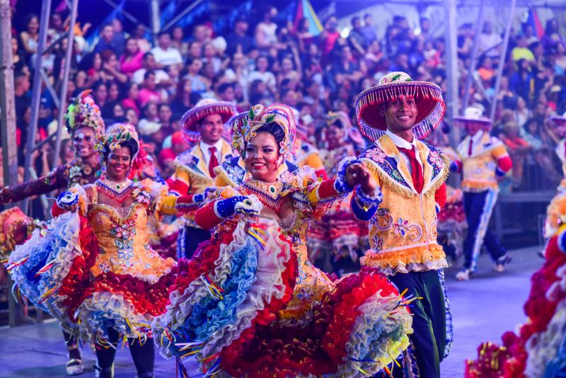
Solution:
M 375 141 L 359 159 L 371 172 L 374 188 L 383 193 L 381 202 L 361 187 L 352 196 L 354 214 L 369 221 L 371 249 L 360 263 L 379 268 L 400 292 L 420 297 L 411 304 L 410 339 L 417 376 L 426 378 L 440 377 L 439 364 L 451 343 L 446 258 L 436 228 L 437 212 L 446 201 L 449 161 L 417 137 L 437 127 L 444 109 L 439 86 L 412 81 L 404 72 L 383 76 L 356 100 L 360 130 Z M 393 372 L 395 377 L 402 374 Z

